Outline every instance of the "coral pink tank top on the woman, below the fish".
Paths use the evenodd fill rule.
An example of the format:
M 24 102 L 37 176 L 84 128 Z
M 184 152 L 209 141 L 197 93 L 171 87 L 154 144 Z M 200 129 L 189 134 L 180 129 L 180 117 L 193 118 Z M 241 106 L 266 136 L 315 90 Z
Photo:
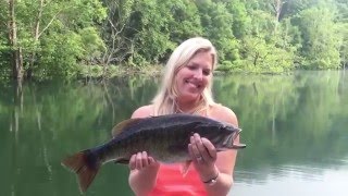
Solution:
M 149 196 L 204 196 L 208 195 L 199 174 L 190 167 L 186 176 L 181 164 L 161 164 L 157 183 Z

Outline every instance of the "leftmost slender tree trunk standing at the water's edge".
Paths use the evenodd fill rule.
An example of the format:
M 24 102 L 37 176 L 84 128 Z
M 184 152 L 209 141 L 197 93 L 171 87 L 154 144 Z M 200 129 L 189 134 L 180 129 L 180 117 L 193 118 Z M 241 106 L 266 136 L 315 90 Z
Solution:
M 9 0 L 9 42 L 12 47 L 11 51 L 11 66 L 12 66 L 12 76 L 18 81 L 22 81 L 23 77 L 23 58 L 22 49 L 17 46 L 17 28 L 15 21 L 14 12 L 15 0 Z

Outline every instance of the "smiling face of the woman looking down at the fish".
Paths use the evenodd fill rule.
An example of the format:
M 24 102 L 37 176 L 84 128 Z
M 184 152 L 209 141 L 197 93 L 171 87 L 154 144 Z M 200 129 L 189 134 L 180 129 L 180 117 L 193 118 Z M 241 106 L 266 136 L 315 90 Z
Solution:
M 181 101 L 198 100 L 212 77 L 213 57 L 198 51 L 176 74 L 175 85 Z

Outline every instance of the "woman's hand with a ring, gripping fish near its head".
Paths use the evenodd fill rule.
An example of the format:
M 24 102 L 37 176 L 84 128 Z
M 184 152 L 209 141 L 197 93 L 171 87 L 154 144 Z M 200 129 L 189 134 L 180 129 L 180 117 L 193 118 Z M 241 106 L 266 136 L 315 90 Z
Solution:
M 215 166 L 216 148 L 209 139 L 195 133 L 190 137 L 188 152 L 202 182 L 208 182 L 219 175 L 219 169 Z

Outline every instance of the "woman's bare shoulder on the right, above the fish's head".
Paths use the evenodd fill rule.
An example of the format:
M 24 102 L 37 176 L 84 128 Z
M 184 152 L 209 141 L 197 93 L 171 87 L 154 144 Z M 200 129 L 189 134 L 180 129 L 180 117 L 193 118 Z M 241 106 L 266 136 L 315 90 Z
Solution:
M 212 119 L 217 120 L 217 121 L 232 123 L 232 124 L 238 126 L 238 120 L 237 120 L 237 115 L 235 114 L 235 112 L 232 109 L 229 109 L 223 105 L 212 106 L 211 110 L 210 110 L 210 117 Z

